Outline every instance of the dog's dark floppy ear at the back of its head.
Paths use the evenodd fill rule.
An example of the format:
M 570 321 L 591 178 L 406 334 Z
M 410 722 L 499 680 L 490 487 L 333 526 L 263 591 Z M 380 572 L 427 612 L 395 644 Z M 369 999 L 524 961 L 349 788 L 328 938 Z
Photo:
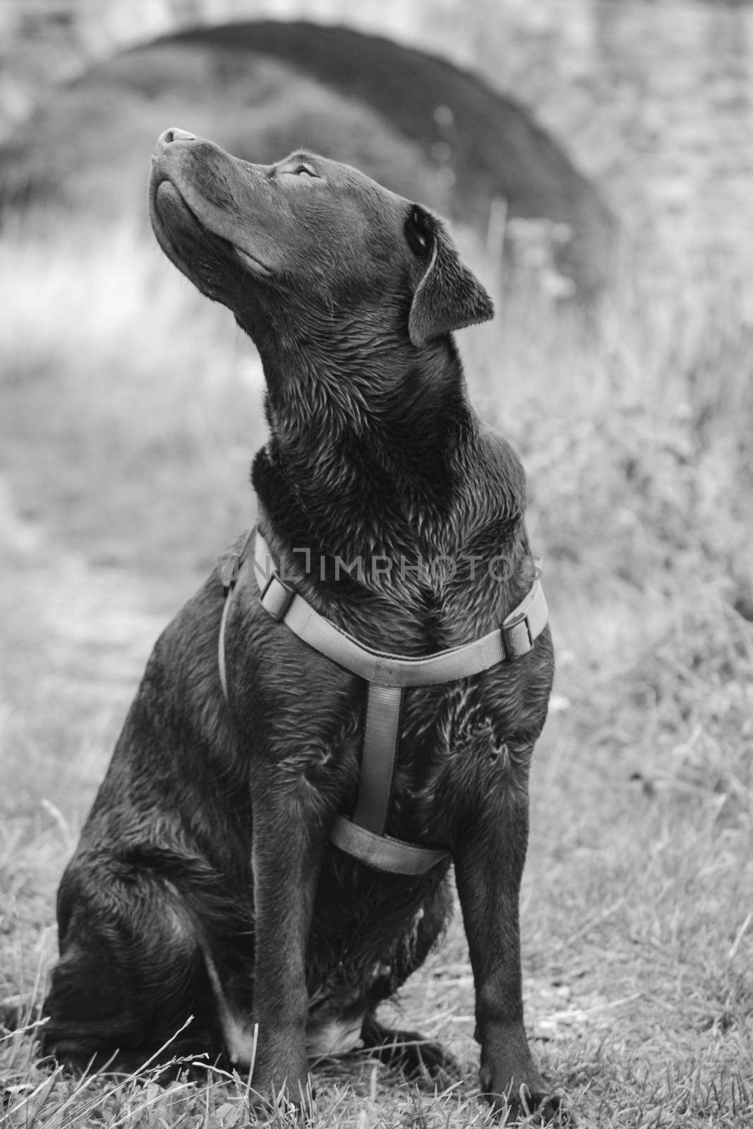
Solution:
M 405 220 L 405 238 L 415 257 L 427 260 L 408 320 L 414 345 L 493 317 L 491 298 L 461 260 L 440 219 L 413 204 Z

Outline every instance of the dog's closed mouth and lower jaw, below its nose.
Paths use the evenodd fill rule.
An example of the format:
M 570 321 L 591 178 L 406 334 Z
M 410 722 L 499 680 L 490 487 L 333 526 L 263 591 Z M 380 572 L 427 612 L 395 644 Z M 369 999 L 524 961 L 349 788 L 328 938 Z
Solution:
M 152 173 L 150 185 L 150 213 L 155 235 L 175 265 L 190 277 L 192 262 L 200 242 L 208 242 L 220 253 L 240 262 L 246 271 L 260 278 L 271 278 L 269 266 L 239 247 L 231 239 L 218 235 L 186 202 L 180 189 L 168 177 Z

